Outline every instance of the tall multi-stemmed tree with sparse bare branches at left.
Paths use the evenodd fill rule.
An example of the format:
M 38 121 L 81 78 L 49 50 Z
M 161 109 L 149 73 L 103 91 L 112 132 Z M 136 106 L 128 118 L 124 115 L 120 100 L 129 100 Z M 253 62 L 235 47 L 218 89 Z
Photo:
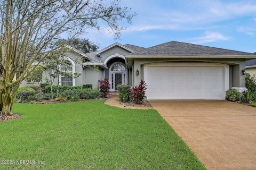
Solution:
M 116 37 L 135 14 L 119 0 L 0 0 L 0 111 L 11 114 L 14 98 L 31 65 L 49 54 L 65 55 L 52 43 L 88 28 L 108 27 Z M 61 46 L 61 44 L 59 44 Z M 14 77 L 16 77 L 14 79 Z

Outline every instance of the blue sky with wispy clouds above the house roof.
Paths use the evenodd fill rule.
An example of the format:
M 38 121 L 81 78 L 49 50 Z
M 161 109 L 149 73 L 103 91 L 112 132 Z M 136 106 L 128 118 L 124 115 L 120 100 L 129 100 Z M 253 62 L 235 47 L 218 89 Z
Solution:
M 256 52 L 256 0 L 122 0 L 136 12 L 120 39 L 106 29 L 87 30 L 100 49 L 115 42 L 150 47 L 181 41 L 211 47 Z

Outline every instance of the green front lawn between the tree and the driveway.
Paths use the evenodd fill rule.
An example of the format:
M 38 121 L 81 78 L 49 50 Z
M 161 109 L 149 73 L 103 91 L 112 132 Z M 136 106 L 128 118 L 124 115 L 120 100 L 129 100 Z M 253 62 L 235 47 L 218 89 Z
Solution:
M 0 123 L 0 160 L 15 165 L 0 164 L 0 169 L 205 169 L 153 109 L 92 100 L 14 104 L 13 112 L 24 116 Z

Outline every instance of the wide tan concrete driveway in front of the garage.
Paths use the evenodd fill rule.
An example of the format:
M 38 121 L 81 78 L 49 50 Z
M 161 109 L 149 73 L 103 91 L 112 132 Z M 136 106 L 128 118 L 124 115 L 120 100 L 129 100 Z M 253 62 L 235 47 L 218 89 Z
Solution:
M 256 108 L 223 100 L 151 100 L 207 169 L 256 169 Z

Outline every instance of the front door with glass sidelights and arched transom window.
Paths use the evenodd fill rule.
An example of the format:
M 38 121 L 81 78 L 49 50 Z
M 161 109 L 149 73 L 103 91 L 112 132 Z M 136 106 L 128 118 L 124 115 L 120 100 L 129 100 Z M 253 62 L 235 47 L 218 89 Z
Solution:
M 116 91 L 117 86 L 127 84 L 127 70 L 122 62 L 115 62 L 109 67 L 110 90 Z

